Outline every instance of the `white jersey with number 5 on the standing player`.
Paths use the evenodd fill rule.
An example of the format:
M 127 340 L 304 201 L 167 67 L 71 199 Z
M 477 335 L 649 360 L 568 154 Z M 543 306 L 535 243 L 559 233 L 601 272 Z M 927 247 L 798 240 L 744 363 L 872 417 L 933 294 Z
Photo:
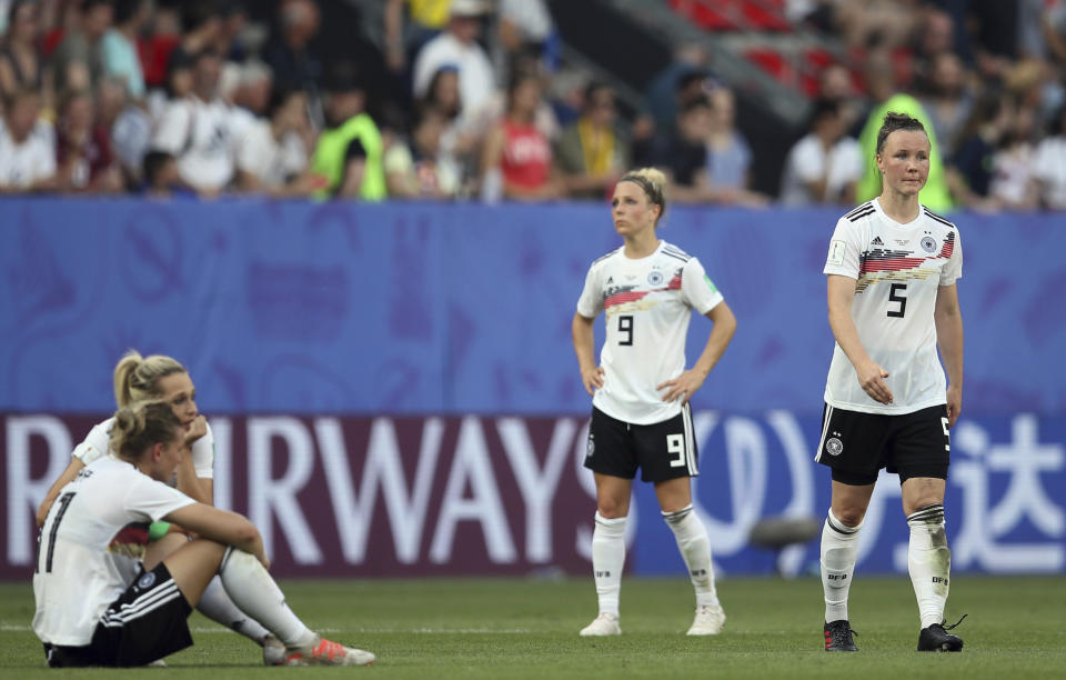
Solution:
M 893 394 L 889 404 L 866 394 L 837 344 L 825 381 L 826 403 L 889 414 L 947 403 L 933 312 L 939 287 L 963 273 L 955 224 L 925 206 L 917 218 L 901 224 L 874 199 L 836 223 L 824 273 L 856 280 L 852 319 L 866 353 L 888 372 L 885 382 Z

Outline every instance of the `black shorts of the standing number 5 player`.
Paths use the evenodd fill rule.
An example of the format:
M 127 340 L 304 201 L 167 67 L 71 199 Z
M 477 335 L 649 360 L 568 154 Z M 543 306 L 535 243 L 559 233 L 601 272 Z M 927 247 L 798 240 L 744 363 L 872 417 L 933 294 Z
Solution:
M 846 484 L 872 484 L 882 468 L 898 473 L 903 483 L 912 477 L 947 479 L 951 449 L 945 404 L 901 416 L 825 404 L 814 459 Z

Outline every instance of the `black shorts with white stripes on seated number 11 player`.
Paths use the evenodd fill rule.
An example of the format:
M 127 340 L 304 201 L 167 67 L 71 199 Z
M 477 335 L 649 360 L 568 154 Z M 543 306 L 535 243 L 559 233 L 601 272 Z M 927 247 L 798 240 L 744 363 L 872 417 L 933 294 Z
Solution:
M 44 644 L 44 654 L 53 668 L 144 666 L 192 646 L 191 611 L 167 566 L 160 563 L 148 572 L 142 569 L 108 607 L 89 644 Z

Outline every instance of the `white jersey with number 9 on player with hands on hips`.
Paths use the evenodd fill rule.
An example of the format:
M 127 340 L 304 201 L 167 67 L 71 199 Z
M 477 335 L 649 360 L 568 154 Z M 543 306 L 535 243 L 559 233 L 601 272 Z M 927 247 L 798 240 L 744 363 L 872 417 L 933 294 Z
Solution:
M 706 314 L 723 298 L 700 260 L 666 241 L 638 260 L 623 250 L 592 263 L 577 300 L 587 319 L 606 311 L 604 380 L 592 403 L 628 423 L 662 422 L 681 412 L 681 401 L 663 401 L 655 386 L 685 370 L 692 310 Z

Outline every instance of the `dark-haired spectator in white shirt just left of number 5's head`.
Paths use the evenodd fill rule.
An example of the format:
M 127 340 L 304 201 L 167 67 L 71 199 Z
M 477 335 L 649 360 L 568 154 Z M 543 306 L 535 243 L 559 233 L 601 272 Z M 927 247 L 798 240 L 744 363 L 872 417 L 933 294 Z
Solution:
M 844 134 L 839 104 L 815 103 L 811 131 L 788 152 L 782 178 L 781 202 L 787 206 L 855 202 L 855 184 L 863 173 L 858 142 Z

